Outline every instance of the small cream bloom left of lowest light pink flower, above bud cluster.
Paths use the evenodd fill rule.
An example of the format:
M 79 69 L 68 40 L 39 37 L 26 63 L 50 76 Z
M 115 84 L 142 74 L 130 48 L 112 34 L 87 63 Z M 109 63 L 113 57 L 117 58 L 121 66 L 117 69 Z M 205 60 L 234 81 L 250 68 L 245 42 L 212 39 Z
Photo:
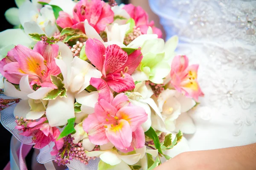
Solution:
M 82 147 L 84 147 L 84 150 L 91 151 L 95 147 L 95 144 L 90 142 L 89 137 L 87 136 L 87 133 L 84 131 L 82 124 L 83 123 L 81 122 L 74 127 L 76 133 L 72 134 L 71 137 L 74 137 L 74 144 L 78 144 L 79 141 L 82 140 Z

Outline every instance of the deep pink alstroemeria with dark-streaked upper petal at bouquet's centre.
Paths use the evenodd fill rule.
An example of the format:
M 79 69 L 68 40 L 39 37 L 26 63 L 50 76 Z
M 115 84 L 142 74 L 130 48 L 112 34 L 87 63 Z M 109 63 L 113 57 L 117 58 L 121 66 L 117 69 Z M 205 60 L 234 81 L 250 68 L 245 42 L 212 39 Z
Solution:
M 85 53 L 103 75 L 101 79 L 90 80 L 90 85 L 99 91 L 99 100 L 105 99 L 108 102 L 113 100 L 108 86 L 117 93 L 135 88 L 131 74 L 143 58 L 140 50 L 135 50 L 128 56 L 118 45 L 109 45 L 105 48 L 102 42 L 94 38 L 86 41 Z

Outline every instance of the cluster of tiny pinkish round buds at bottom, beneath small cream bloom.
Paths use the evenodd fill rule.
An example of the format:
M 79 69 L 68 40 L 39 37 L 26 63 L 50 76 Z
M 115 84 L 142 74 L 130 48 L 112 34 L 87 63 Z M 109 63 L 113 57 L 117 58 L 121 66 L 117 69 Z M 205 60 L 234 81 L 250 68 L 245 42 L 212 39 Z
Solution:
M 96 145 L 93 151 L 99 151 L 99 146 Z M 76 146 L 73 147 L 73 152 L 75 153 L 75 159 L 79 160 L 81 163 L 88 164 L 88 161 L 95 160 L 96 157 L 89 157 L 86 155 L 84 147 L 82 147 L 82 143 L 79 142 Z

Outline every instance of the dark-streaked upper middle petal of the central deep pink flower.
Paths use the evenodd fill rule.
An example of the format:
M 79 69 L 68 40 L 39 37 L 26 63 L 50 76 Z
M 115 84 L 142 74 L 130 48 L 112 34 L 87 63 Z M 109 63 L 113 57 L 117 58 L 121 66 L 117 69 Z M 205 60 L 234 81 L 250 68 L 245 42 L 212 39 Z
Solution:
M 116 73 L 128 59 L 128 55 L 118 45 L 109 45 L 106 48 L 103 73 Z

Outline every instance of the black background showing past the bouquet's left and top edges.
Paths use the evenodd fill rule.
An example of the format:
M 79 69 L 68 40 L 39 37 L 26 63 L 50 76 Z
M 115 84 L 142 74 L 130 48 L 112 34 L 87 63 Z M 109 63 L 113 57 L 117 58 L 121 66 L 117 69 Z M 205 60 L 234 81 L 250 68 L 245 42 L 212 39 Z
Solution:
M 105 0 L 105 2 L 108 2 L 108 0 Z M 122 0 L 122 3 L 127 4 L 128 0 Z M 9 24 L 5 17 L 4 13 L 7 9 L 16 7 L 15 1 L 14 0 L 8 0 L 7 3 L 5 3 L 3 6 L 1 6 L 0 10 L 0 32 L 4 31 L 6 29 L 13 28 L 11 24 Z M 1 40 L 0 40 L 1 41 Z M 1 146 L 1 161 L 0 161 L 0 170 L 3 170 L 3 168 L 6 166 L 6 164 L 9 162 L 9 157 L 10 157 L 10 141 L 12 134 L 6 130 L 2 124 L 0 124 L 0 146 Z M 26 157 L 26 163 L 28 170 L 31 170 L 31 159 L 32 159 L 32 154 L 33 154 L 33 149 L 30 151 L 28 156 Z

